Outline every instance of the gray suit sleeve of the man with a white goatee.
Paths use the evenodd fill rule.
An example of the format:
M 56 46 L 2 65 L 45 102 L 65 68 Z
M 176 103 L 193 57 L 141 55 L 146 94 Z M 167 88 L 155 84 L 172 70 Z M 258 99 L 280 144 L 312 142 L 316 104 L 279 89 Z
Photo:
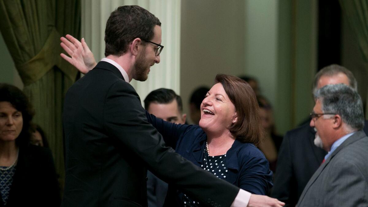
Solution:
M 331 162 L 330 162 L 331 164 Z M 361 169 L 349 159 L 333 162 L 328 188 L 323 192 L 323 206 L 367 206 L 368 184 Z

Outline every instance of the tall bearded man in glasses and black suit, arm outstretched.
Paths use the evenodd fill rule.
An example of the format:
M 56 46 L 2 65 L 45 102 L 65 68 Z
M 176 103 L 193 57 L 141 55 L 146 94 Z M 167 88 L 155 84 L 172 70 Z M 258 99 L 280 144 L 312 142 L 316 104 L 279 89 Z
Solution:
M 145 81 L 150 67 L 160 62 L 160 25 L 141 7 L 118 7 L 106 24 L 106 58 L 68 90 L 62 206 L 147 206 L 146 168 L 207 206 L 281 206 L 276 199 L 239 190 L 196 167 L 165 147 L 147 122 L 128 82 Z M 73 44 L 61 45 L 72 57 L 61 56 L 74 66 L 89 51 L 76 41 L 76 53 Z

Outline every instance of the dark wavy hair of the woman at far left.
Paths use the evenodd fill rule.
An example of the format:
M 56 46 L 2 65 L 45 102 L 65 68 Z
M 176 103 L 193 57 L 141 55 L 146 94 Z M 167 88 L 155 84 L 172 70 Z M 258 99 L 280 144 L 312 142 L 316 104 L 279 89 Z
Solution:
M 26 95 L 14 85 L 0 83 L 0 102 L 10 102 L 11 105 L 22 113 L 23 126 L 22 131 L 15 140 L 15 143 L 27 145 L 31 137 L 31 120 L 34 115 L 34 110 Z

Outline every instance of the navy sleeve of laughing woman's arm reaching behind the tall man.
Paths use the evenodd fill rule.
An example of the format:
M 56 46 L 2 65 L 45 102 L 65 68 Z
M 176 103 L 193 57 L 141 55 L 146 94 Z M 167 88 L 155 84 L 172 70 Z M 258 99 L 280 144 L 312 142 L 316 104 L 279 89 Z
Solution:
M 166 122 L 146 111 L 148 122 L 162 135 L 163 140 L 167 147 L 176 148 L 176 143 L 179 137 L 188 128 L 186 124 L 175 124 Z

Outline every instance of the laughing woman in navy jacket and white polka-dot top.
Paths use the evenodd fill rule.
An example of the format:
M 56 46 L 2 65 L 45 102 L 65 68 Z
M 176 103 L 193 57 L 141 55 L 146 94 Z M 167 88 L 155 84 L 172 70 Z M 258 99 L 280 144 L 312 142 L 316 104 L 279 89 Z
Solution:
M 258 102 L 250 85 L 235 76 L 218 74 L 201 104 L 199 126 L 165 122 L 147 113 L 166 146 L 233 185 L 265 195 L 272 172 L 256 148 L 263 137 Z M 202 206 L 169 185 L 167 206 Z

